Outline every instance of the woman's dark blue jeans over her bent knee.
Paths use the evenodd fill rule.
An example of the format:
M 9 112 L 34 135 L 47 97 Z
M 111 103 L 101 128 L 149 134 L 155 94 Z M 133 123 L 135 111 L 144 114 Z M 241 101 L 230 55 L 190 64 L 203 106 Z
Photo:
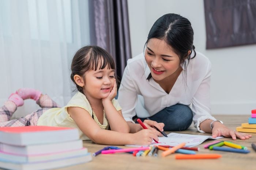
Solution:
M 187 105 L 175 104 L 164 108 L 149 118 L 156 122 L 164 123 L 165 127 L 163 127 L 163 130 L 165 131 L 182 131 L 188 129 L 191 125 L 193 113 Z M 143 122 L 146 118 L 140 119 Z

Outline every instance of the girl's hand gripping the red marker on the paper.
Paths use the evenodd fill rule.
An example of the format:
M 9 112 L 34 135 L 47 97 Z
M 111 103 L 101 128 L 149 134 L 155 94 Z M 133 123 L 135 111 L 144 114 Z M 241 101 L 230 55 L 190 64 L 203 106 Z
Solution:
M 158 132 L 158 131 L 157 131 Z M 133 144 L 134 145 L 151 145 L 153 139 L 158 141 L 157 133 L 153 130 L 143 129 L 136 133 L 133 133 Z

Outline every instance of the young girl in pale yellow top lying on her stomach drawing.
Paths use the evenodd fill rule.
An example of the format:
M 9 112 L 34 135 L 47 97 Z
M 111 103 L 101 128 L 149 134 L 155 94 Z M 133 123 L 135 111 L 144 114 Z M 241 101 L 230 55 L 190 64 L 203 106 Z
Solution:
M 129 134 L 117 94 L 115 66 L 110 54 L 97 46 L 78 50 L 71 64 L 71 79 L 78 92 L 67 106 L 59 108 L 40 91 L 22 88 L 9 97 L 0 108 L 0 126 L 60 126 L 78 128 L 82 140 L 106 145 L 148 145 L 158 141 L 156 130 L 141 130 Z M 24 99 L 34 99 L 42 109 L 23 118 L 10 120 Z M 163 130 L 163 124 L 157 124 Z M 111 130 L 109 130 L 111 129 Z

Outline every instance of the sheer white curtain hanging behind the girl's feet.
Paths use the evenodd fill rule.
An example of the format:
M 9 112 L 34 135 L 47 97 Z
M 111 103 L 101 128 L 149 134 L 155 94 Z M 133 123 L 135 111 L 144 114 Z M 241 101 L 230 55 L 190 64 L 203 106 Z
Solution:
M 67 104 L 75 90 L 71 60 L 90 44 L 89 31 L 88 1 L 0 0 L 0 105 L 21 87 Z M 38 108 L 27 99 L 14 117 Z

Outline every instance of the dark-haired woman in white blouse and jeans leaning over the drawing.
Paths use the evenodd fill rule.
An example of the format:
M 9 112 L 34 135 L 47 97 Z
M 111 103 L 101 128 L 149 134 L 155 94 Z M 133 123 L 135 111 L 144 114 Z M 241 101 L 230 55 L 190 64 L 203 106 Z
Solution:
M 249 139 L 251 135 L 230 130 L 211 116 L 210 77 L 211 63 L 195 51 L 190 21 L 173 13 L 160 17 L 148 33 L 144 54 L 128 60 L 119 88 L 130 132 L 142 129 L 133 122 L 136 116 L 151 130 L 186 130 L 193 121 L 213 138 Z

